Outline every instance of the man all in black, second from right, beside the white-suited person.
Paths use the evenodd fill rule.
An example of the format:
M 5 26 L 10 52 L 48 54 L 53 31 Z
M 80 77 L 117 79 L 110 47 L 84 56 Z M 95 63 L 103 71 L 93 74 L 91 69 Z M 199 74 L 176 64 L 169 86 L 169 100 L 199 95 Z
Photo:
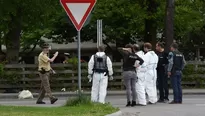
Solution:
M 159 89 L 159 103 L 164 103 L 169 101 L 169 88 L 168 88 L 168 77 L 166 67 L 168 65 L 168 53 L 164 51 L 164 43 L 158 42 L 156 44 L 156 53 L 159 57 L 159 62 L 157 65 L 157 81 Z

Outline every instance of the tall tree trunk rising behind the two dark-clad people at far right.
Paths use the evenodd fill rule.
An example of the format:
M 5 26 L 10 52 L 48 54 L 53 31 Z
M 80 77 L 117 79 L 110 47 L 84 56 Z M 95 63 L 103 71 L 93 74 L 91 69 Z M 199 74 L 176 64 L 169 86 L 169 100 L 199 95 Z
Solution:
M 165 51 L 169 51 L 174 40 L 174 0 L 167 0 L 166 28 L 165 28 Z

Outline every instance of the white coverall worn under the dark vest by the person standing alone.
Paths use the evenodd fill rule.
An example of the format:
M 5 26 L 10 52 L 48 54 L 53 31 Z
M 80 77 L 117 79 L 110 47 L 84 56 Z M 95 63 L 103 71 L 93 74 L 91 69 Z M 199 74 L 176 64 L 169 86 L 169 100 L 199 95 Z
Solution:
M 97 56 L 104 56 L 105 52 L 97 52 Z M 105 73 L 95 73 L 93 72 L 94 68 L 94 55 L 91 57 L 88 63 L 88 74 L 93 74 L 92 79 L 92 90 L 91 90 L 91 101 L 105 103 L 105 97 L 107 95 L 107 86 L 108 86 L 108 75 L 113 75 L 112 62 L 107 56 L 107 68 L 108 75 L 105 76 Z

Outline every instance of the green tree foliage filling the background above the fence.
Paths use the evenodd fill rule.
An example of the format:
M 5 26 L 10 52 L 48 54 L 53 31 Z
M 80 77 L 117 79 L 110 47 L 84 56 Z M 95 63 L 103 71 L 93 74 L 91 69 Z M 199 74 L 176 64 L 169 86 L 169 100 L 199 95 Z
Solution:
M 175 0 L 174 39 L 183 45 L 205 42 L 204 5 L 204 0 Z M 82 41 L 96 42 L 98 19 L 103 20 L 105 43 L 122 46 L 140 40 L 157 41 L 161 38 L 156 34 L 165 30 L 165 8 L 164 0 L 98 0 L 89 24 L 81 31 Z M 29 51 L 31 45 L 42 43 L 42 36 L 56 43 L 68 43 L 76 41 L 77 35 L 55 0 L 0 0 L 0 31 L 7 56 L 14 59 L 18 59 L 20 46 Z

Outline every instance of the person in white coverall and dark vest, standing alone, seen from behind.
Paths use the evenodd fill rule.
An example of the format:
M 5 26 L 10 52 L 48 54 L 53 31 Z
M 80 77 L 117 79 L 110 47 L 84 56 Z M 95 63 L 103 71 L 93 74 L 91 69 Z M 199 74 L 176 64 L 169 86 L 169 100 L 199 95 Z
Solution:
M 88 63 L 88 79 L 92 81 L 91 101 L 105 103 L 107 95 L 108 77 L 113 80 L 113 69 L 110 58 L 105 54 L 103 46 L 92 55 Z

